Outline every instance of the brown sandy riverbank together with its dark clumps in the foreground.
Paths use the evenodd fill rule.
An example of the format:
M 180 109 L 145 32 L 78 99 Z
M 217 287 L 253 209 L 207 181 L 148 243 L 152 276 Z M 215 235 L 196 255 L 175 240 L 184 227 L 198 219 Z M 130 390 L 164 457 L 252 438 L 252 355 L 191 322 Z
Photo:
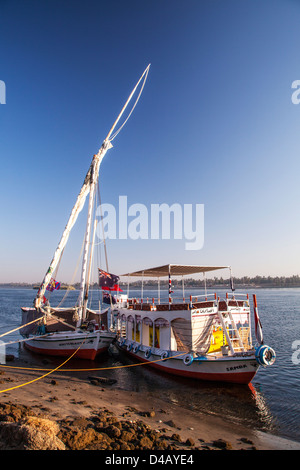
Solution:
M 76 444 L 76 433 L 77 437 L 83 432 L 87 435 L 87 430 L 91 440 L 86 441 L 84 449 L 300 450 L 300 443 L 168 404 L 154 397 L 151 390 L 143 394 L 128 392 L 98 381 L 97 377 L 105 376 L 103 373 L 86 372 L 79 376 L 76 372 L 57 371 L 35 380 L 47 370 L 31 370 L 36 364 L 18 359 L 6 366 L 0 366 L 0 391 L 7 390 L 0 393 L 2 429 L 5 422 L 28 425 L 28 416 L 34 414 L 57 423 L 56 435 L 66 450 L 82 448 L 82 444 Z M 22 366 L 29 369 L 17 368 Z M 31 381 L 34 382 L 14 388 Z M 25 414 L 12 411 L 22 406 L 26 407 Z M 78 421 L 79 418 L 83 420 Z M 150 430 L 156 432 L 151 434 Z M 10 448 L 9 445 L 8 441 L 2 442 L 2 449 Z

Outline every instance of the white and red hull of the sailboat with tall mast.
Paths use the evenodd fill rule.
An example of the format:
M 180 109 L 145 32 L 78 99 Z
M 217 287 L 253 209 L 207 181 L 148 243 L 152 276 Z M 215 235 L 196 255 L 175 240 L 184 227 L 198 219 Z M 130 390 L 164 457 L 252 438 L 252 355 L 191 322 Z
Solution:
M 29 337 L 25 347 L 38 354 L 60 357 L 69 357 L 79 348 L 76 358 L 94 360 L 98 354 L 108 350 L 114 338 L 114 333 L 101 330 L 92 333 L 58 332 L 47 337 Z

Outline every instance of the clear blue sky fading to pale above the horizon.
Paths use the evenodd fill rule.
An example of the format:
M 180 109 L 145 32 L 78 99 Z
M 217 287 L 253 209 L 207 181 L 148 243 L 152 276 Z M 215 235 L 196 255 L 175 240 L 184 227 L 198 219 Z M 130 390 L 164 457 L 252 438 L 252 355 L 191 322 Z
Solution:
M 101 165 L 101 199 L 118 208 L 127 196 L 149 213 L 203 204 L 204 243 L 108 240 L 110 271 L 300 274 L 299 24 L 297 0 L 0 0 L 0 282 L 42 280 L 91 159 L 149 63 Z

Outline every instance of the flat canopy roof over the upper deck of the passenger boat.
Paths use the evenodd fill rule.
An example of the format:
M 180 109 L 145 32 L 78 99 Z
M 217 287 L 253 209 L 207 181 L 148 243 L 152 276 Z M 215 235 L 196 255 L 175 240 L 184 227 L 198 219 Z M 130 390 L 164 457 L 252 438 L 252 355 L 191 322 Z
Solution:
M 226 269 L 229 266 L 193 266 L 185 264 L 165 264 L 156 268 L 142 269 L 132 273 L 122 274 L 122 276 L 147 276 L 161 277 L 168 276 L 169 272 L 173 276 L 185 276 L 187 274 L 206 273 L 208 271 L 216 271 L 217 269 Z

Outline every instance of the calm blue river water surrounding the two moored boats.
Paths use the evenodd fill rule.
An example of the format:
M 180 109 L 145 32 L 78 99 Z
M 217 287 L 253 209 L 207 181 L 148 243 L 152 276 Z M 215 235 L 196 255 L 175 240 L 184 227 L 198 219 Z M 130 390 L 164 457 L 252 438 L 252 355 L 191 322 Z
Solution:
M 186 291 L 186 296 L 190 292 Z M 248 292 L 250 295 L 254 293 L 251 290 Z M 255 293 L 265 343 L 275 349 L 277 358 L 273 366 L 259 369 L 249 387 L 173 377 L 145 366 L 108 370 L 99 374 L 116 378 L 115 387 L 140 393 L 150 391 L 154 402 L 155 397 L 160 397 L 182 407 L 220 415 L 231 422 L 300 442 L 300 364 L 292 361 L 293 342 L 300 341 L 300 288 L 257 289 Z M 52 305 L 57 305 L 65 292 L 54 294 Z M 132 294 L 138 297 L 140 292 Z M 35 291 L 31 289 L 0 289 L 0 334 L 20 325 L 20 307 L 31 306 L 34 295 Z M 151 298 L 156 297 L 157 293 L 146 291 L 144 295 Z M 218 291 L 218 295 L 222 293 Z M 78 292 L 70 292 L 67 299 L 70 305 L 77 296 Z M 95 308 L 96 293 L 94 297 Z M 1 339 L 6 342 L 17 341 L 20 336 L 16 332 Z M 6 352 L 22 358 L 29 354 L 19 344 L 7 346 Z M 100 356 L 93 367 L 127 363 L 130 363 L 130 359 L 116 353 Z M 73 360 L 70 367 L 75 366 L 88 368 L 91 363 Z M 80 376 L 83 373 L 78 374 Z

